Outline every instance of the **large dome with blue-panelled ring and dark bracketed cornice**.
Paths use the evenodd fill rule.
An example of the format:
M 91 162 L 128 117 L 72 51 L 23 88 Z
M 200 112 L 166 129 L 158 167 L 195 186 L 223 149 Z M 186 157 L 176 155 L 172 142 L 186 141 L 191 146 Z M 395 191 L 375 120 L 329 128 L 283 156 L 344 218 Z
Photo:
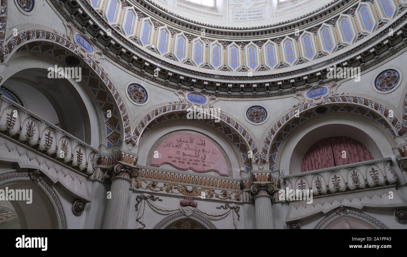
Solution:
M 405 46 L 407 0 L 261 1 L 218 1 L 222 22 L 181 10 L 182 3 L 197 5 L 186 0 L 81 0 L 65 6 L 77 13 L 89 40 L 129 70 L 162 85 L 214 94 L 292 93 L 325 80 L 333 65 L 368 68 Z M 301 4 L 306 7 L 294 11 Z M 250 10 L 261 8 L 258 26 L 233 15 L 240 10 L 251 17 Z

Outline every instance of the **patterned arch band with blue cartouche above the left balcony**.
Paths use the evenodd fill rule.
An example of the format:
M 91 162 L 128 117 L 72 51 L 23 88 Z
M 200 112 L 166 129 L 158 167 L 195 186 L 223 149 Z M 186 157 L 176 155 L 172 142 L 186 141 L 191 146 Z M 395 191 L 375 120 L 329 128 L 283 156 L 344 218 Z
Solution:
M 72 36 L 79 35 L 83 39 L 87 38 L 69 22 L 68 27 L 71 30 Z M 90 42 L 89 38 L 88 40 Z M 110 133 L 107 135 L 107 141 L 112 146 L 120 144 L 122 140 L 125 140 L 127 144 L 134 145 L 130 136 L 131 128 L 127 108 L 120 93 L 103 68 L 99 66 L 96 54 L 100 55 L 101 51 L 94 45 L 92 46 L 92 54 L 89 54 L 83 48 L 83 45 L 77 44 L 77 41 L 72 40 L 72 37 L 47 30 L 19 30 L 19 34 L 11 37 L 7 44 L 4 45 L 4 50 L 0 53 L 0 61 L 6 67 L 7 62 L 16 52 L 36 51 L 54 56 L 60 61 L 68 53 L 77 56 L 81 60 L 83 68 L 82 78 L 93 93 L 90 95 L 98 102 L 103 112 L 106 129 L 107 131 L 109 129 Z M 111 102 L 109 102 L 109 99 Z M 112 110 L 112 117 L 107 117 L 107 110 Z M 118 130 L 118 125 L 120 125 L 120 131 Z M 112 128 L 112 126 L 115 128 Z M 108 147 L 109 144 L 107 144 Z

